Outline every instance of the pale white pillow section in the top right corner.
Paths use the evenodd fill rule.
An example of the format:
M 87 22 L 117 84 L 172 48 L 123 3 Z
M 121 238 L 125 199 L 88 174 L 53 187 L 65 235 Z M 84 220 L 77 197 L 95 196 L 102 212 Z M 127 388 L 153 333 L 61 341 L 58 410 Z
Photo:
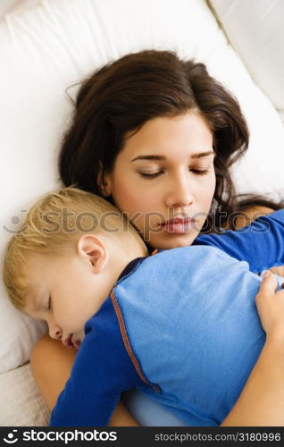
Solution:
M 248 71 L 284 113 L 284 2 L 209 0 Z

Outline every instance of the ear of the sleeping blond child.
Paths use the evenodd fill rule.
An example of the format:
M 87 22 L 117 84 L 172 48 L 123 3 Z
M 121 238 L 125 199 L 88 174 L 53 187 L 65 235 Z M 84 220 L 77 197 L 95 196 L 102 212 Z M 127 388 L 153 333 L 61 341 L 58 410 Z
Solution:
M 94 274 L 99 274 L 104 270 L 108 261 L 108 250 L 95 234 L 84 234 L 77 244 L 79 257 L 82 257 L 91 266 Z

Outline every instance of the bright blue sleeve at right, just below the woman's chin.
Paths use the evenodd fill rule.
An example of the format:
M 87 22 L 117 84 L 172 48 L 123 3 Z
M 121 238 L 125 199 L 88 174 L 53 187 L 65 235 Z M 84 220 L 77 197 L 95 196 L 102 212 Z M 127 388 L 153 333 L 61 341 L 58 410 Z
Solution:
M 284 265 L 284 209 L 263 215 L 234 232 L 201 234 L 193 245 L 211 245 L 246 261 L 254 273 Z

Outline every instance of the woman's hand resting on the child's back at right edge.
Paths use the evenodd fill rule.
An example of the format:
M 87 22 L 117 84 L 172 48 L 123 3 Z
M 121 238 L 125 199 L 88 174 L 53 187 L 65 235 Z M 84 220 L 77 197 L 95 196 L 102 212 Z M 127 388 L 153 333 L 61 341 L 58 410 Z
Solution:
M 266 271 L 255 304 L 266 336 L 277 335 L 284 342 L 284 290 L 276 291 L 277 286 L 274 275 Z

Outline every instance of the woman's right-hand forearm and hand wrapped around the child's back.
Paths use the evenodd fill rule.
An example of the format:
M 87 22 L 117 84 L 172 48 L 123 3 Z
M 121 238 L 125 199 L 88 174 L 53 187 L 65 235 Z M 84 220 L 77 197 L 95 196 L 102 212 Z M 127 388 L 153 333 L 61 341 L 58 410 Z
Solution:
M 221 426 L 284 426 L 284 291 L 264 278 L 256 306 L 266 342 L 237 403 Z

